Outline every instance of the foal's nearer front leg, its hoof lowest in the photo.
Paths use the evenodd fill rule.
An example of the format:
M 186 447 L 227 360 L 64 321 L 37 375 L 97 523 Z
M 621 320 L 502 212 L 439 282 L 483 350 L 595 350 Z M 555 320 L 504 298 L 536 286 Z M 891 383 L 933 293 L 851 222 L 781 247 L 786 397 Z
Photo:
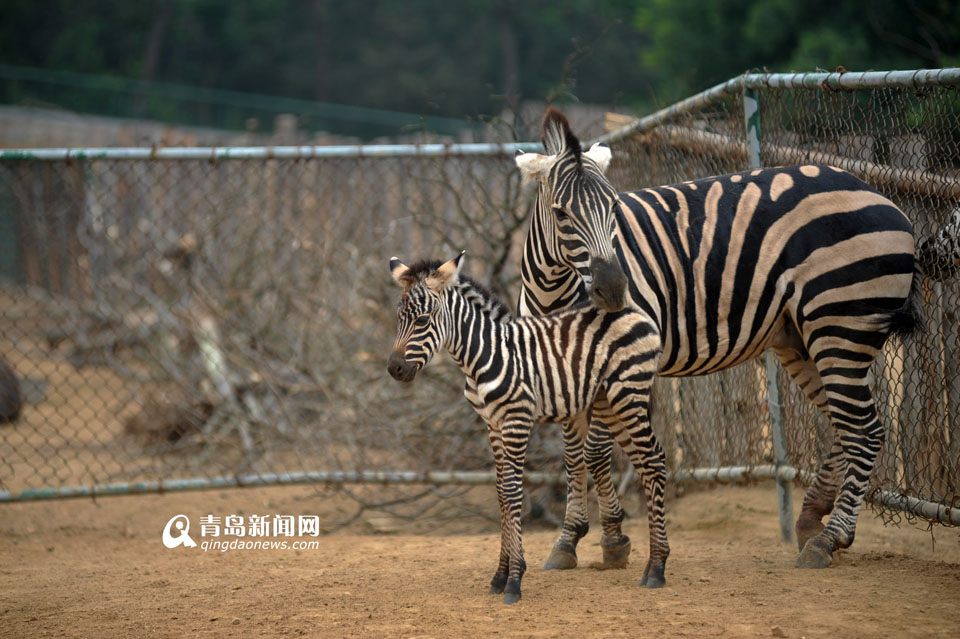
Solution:
M 526 460 L 527 441 L 530 439 L 531 424 L 514 422 L 503 428 L 503 514 L 504 537 L 509 570 L 503 590 L 503 603 L 513 604 L 520 601 L 520 582 L 527 570 L 523 558 L 523 538 L 520 532 L 520 514 L 523 507 L 523 464 Z

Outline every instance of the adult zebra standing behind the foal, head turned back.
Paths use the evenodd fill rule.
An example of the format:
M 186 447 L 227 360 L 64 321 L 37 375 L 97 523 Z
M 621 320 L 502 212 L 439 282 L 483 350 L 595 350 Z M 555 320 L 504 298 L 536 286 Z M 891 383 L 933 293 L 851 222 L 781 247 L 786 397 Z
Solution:
M 543 120 L 543 144 L 547 155 L 516 158 L 524 178 L 540 184 L 522 253 L 520 313 L 587 299 L 608 310 L 634 304 L 658 325 L 665 376 L 719 371 L 772 348 L 835 429 L 796 523 L 797 566 L 828 566 L 853 542 L 883 442 L 868 369 L 889 335 L 918 323 L 923 264 L 910 222 L 869 185 L 831 167 L 760 169 L 618 194 L 604 175 L 609 149 L 582 151 L 554 109 Z M 595 425 L 564 433 L 567 513 L 546 569 L 576 565 L 588 527 L 585 468 L 596 481 L 605 562 L 629 553 L 605 433 Z

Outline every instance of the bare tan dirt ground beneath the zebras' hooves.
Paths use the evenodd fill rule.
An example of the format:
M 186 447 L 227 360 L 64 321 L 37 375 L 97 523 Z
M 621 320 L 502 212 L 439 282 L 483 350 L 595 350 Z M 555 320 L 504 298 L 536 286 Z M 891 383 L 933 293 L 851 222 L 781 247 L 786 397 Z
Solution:
M 482 489 L 482 493 L 488 492 Z M 960 536 L 883 527 L 823 571 L 793 567 L 778 539 L 772 484 L 721 487 L 668 504 L 667 587 L 637 587 L 646 519 L 626 522 L 631 564 L 597 571 L 594 528 L 581 567 L 543 572 L 555 530 L 525 534 L 523 599 L 487 595 L 496 525 L 410 534 L 369 523 L 313 550 L 167 549 L 179 513 L 311 512 L 316 489 L 199 492 L 0 506 L 2 637 L 956 637 Z M 495 512 L 492 492 L 482 494 Z M 799 504 L 800 493 L 796 494 Z M 323 507 L 331 502 L 324 499 Z M 364 528 L 364 526 L 367 526 Z

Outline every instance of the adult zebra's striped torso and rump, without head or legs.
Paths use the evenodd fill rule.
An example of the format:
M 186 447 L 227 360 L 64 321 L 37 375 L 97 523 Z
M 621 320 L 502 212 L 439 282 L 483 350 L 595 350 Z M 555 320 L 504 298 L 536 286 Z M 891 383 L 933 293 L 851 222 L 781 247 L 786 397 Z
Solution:
M 910 294 L 910 222 L 839 169 L 644 189 L 622 194 L 618 211 L 629 297 L 663 328 L 661 375 L 712 373 L 771 346 L 819 352 L 841 330 L 882 343 Z

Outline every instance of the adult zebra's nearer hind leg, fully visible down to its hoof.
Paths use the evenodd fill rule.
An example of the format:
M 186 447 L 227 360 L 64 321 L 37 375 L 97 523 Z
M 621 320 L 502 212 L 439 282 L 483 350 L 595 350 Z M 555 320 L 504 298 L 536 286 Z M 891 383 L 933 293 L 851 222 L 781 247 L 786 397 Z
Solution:
M 841 450 L 842 463 L 836 468 L 840 471 L 837 474 L 842 474 L 842 483 L 833 514 L 826 527 L 804 544 L 797 557 L 798 568 L 826 568 L 833 562 L 835 550 L 853 543 L 857 516 L 884 440 L 883 425 L 867 384 L 868 367 L 882 345 L 882 337 L 873 350 L 874 357 L 860 355 L 839 362 L 838 358 L 823 359 L 828 363 L 823 364 L 820 376 L 824 379 L 830 421 L 836 431 L 835 447 Z M 821 502 L 824 503 L 825 500 Z

